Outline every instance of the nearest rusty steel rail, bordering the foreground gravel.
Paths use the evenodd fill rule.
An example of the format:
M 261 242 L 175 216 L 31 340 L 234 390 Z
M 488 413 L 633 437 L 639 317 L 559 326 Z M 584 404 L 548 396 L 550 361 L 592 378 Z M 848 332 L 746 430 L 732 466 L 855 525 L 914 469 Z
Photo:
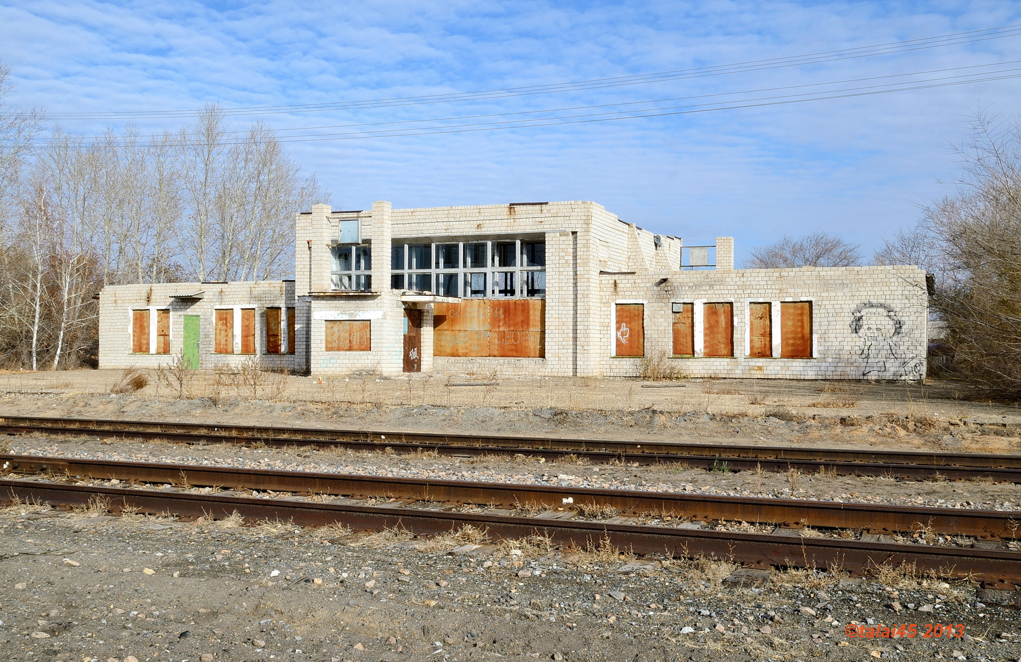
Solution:
M 310 526 L 341 522 L 360 530 L 401 527 L 419 536 L 442 533 L 471 524 L 496 538 L 516 539 L 539 533 L 548 536 L 562 547 L 580 549 L 598 547 L 605 541 L 636 554 L 674 557 L 706 555 L 759 567 L 841 568 L 861 573 L 884 564 L 894 567 L 913 564 L 917 570 L 932 570 L 941 576 L 966 576 L 989 587 L 1012 587 L 1021 582 L 1021 553 L 1001 550 L 737 533 L 288 499 L 164 494 L 30 480 L 0 479 L 0 495 L 7 499 L 34 499 L 63 506 L 80 506 L 100 497 L 109 500 L 109 507 L 114 512 L 131 507 L 146 513 L 212 518 L 228 517 L 236 512 L 246 519 L 283 520 Z

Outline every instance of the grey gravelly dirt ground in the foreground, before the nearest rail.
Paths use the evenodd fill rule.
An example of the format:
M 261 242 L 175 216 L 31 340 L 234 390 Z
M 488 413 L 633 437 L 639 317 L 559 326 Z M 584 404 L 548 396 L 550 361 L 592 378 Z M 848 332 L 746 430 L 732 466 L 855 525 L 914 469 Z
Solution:
M 44 516 L 53 515 L 53 516 Z M 479 531 L 415 542 L 284 523 L 175 522 L 101 507 L 0 513 L 9 660 L 1008 660 L 1015 609 L 968 582 L 881 569 L 723 582 L 721 560 L 564 554 Z M 461 546 L 468 545 L 468 548 Z M 458 551 L 454 551 L 458 550 Z M 900 611 L 897 611 L 900 610 Z M 848 624 L 918 623 L 849 639 Z M 929 623 L 961 638 L 923 638 Z

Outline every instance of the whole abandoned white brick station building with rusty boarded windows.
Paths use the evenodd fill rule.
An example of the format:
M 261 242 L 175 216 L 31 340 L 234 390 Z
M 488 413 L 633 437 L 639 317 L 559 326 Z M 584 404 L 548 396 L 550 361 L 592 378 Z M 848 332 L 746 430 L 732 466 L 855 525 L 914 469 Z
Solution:
M 99 361 L 254 357 L 373 370 L 917 379 L 928 297 L 916 266 L 735 269 L 733 240 L 684 247 L 592 202 L 296 217 L 295 279 L 104 288 Z M 712 259 L 715 253 L 715 260 Z

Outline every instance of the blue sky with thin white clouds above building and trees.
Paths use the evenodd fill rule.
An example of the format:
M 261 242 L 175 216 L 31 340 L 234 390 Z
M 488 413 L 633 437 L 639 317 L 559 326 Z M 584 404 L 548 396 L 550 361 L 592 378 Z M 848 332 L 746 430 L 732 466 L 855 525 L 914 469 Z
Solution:
M 506 89 L 1011 23 L 1021 23 L 1016 2 L 0 0 L 0 60 L 17 86 L 12 103 L 58 115 Z M 1021 60 L 1021 37 L 555 94 L 239 114 L 232 122 L 242 130 L 261 118 L 282 137 L 323 135 L 352 130 L 301 128 L 633 103 L 1011 60 Z M 1021 64 L 1001 68 L 1008 66 Z M 819 230 L 871 254 L 880 237 L 914 222 L 919 205 L 951 190 L 952 146 L 966 134 L 968 115 L 981 107 L 1012 116 L 1019 101 L 1021 79 L 1009 79 L 696 114 L 288 147 L 334 192 L 330 202 L 345 209 L 380 199 L 398 207 L 594 200 L 688 244 L 734 236 L 739 256 L 785 233 Z M 596 111 L 561 114 L 578 112 Z M 60 123 L 93 135 L 123 121 Z M 186 121 L 138 124 L 148 132 Z

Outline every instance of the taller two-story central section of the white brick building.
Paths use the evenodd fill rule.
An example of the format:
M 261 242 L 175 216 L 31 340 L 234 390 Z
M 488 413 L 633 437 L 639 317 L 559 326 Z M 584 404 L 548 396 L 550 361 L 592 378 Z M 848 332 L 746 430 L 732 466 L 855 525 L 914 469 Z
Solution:
M 642 238 L 642 235 L 648 235 Z M 296 292 L 309 306 L 310 370 L 597 374 L 600 270 L 676 262 L 591 202 L 298 215 Z

